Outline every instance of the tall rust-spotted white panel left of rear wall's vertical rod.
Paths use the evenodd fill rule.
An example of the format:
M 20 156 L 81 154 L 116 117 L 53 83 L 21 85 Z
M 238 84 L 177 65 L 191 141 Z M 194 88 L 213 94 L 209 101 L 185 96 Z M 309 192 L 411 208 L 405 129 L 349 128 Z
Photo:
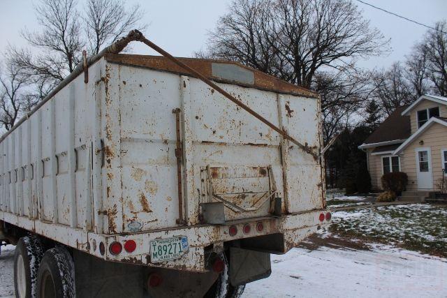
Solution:
M 179 77 L 110 66 L 119 73 L 121 100 L 123 229 L 176 226 L 178 219 L 176 124 Z

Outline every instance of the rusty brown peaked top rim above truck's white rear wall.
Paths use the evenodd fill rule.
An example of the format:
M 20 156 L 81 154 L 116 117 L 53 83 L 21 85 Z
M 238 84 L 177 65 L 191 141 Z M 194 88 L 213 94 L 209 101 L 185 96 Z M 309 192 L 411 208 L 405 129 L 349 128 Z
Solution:
M 105 54 L 108 62 L 128 66 L 138 66 L 154 70 L 166 71 L 179 75 L 193 73 L 181 68 L 173 61 L 163 56 L 135 55 L 135 54 Z M 277 91 L 284 94 L 293 94 L 312 98 L 319 98 L 318 94 L 304 87 L 291 84 L 262 71 L 244 66 L 234 61 L 197 59 L 177 57 L 187 66 L 194 68 L 210 80 L 228 82 L 243 87 L 252 87 L 267 91 Z

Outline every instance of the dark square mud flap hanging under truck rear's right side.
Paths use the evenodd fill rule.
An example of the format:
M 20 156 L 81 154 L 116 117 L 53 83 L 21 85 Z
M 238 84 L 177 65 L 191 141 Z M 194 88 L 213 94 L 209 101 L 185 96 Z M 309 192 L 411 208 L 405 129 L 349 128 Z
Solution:
M 230 283 L 234 287 L 267 278 L 271 273 L 270 253 L 230 248 Z

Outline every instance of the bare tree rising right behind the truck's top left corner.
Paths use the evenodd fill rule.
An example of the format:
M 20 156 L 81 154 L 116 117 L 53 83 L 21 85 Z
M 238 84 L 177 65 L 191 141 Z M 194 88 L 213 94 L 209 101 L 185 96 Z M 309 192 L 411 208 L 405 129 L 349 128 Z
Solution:
M 126 10 L 124 1 L 88 0 L 83 20 L 89 52 L 98 54 L 103 45 L 114 43 L 131 29 L 146 29 L 139 24 L 143 14 L 139 5 Z

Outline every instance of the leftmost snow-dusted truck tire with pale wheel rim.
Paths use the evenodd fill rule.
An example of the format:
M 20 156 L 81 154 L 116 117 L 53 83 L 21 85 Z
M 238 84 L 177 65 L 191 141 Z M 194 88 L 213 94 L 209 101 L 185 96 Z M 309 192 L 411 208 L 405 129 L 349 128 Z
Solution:
M 34 236 L 19 239 L 14 252 L 14 289 L 19 298 L 36 297 L 36 280 L 43 245 Z

